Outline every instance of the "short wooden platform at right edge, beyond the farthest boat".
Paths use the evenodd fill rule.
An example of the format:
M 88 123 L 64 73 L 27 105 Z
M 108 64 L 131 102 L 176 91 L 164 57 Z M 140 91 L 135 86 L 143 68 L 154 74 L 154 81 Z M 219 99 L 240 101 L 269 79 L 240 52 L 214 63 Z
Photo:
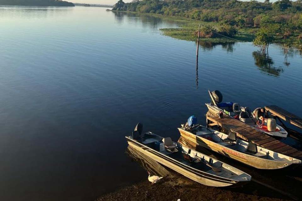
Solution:
M 278 106 L 265 106 L 266 111 L 270 112 L 273 116 L 279 117 L 290 124 L 302 128 L 302 118 L 282 109 Z

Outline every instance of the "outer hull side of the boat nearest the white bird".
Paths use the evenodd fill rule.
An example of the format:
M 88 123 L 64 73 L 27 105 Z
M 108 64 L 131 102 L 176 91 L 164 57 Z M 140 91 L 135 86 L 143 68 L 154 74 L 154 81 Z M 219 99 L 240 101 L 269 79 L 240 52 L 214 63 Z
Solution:
M 143 152 L 148 157 L 152 158 L 153 160 L 159 162 L 160 164 L 171 168 L 172 170 L 182 174 L 183 176 L 192 179 L 195 182 L 201 183 L 206 186 L 213 186 L 213 187 L 226 187 L 231 186 L 236 183 L 241 183 L 232 179 L 224 179 L 221 177 L 211 177 L 210 175 L 204 174 L 202 171 L 196 171 L 189 166 L 186 166 L 179 161 L 173 160 L 170 157 L 167 157 L 163 154 L 159 154 L 153 149 L 150 149 L 143 144 L 138 143 L 131 138 L 126 137 L 129 146 L 132 146 L 134 149 Z

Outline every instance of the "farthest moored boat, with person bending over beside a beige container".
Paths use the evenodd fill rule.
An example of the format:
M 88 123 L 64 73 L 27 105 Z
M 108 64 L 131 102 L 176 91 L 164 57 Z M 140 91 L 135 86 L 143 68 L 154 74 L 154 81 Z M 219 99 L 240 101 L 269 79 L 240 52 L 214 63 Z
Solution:
M 211 114 L 217 115 L 219 112 L 223 112 L 232 118 L 236 117 L 238 120 L 253 126 L 262 133 L 281 138 L 287 137 L 288 132 L 278 124 L 276 124 L 273 130 L 270 129 L 268 123 L 270 124 L 271 121 L 274 121 L 273 119 L 265 119 L 261 125 L 257 125 L 248 107 L 242 107 L 238 103 L 222 102 L 222 95 L 218 90 L 208 92 L 212 101 L 211 103 L 206 103 L 205 105 L 208 107 Z

